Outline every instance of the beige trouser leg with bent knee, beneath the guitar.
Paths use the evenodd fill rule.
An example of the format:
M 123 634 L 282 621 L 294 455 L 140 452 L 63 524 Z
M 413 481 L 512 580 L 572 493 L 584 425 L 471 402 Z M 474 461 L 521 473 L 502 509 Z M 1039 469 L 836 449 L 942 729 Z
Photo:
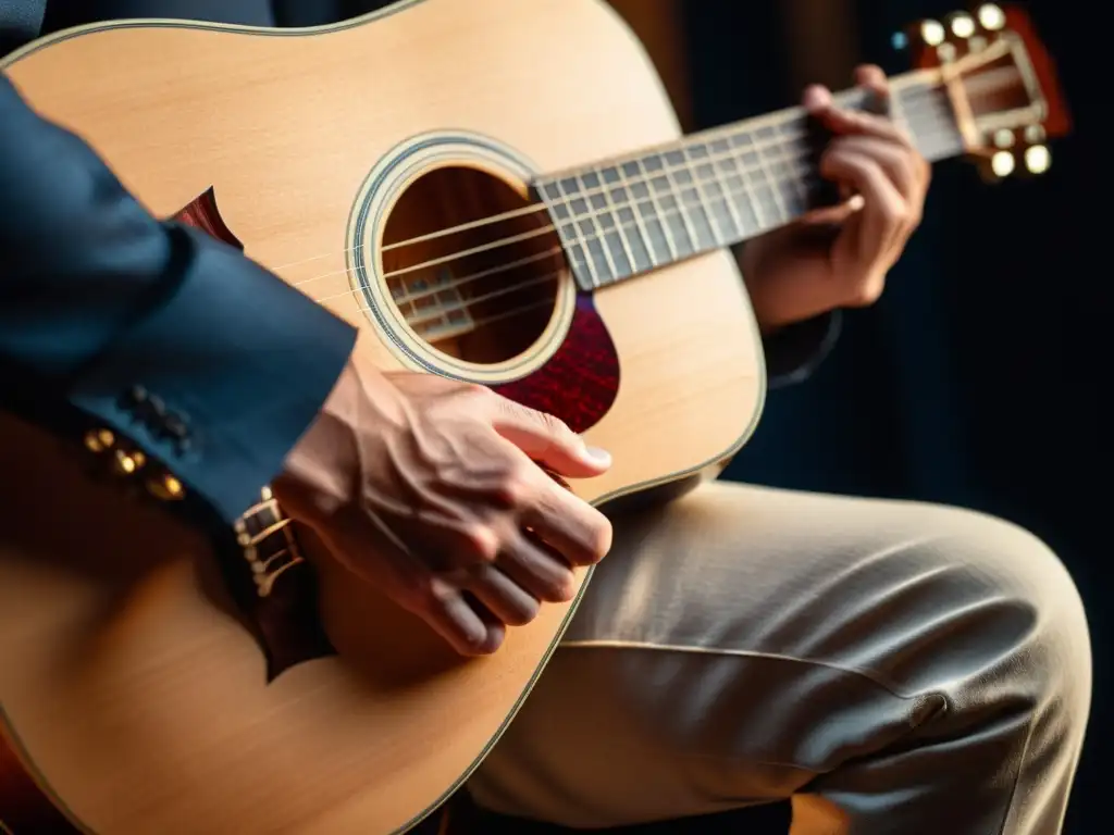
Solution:
M 793 835 L 1051 835 L 1089 699 L 1076 589 L 1019 528 L 716 482 L 616 521 L 470 789 L 573 827 L 793 796 Z

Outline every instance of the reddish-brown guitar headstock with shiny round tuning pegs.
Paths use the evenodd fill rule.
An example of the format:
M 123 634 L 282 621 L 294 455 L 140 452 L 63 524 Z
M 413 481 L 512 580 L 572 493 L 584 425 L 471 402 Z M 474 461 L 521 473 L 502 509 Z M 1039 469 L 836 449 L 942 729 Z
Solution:
M 969 13 L 921 20 L 903 37 L 916 65 L 940 73 L 965 150 L 985 176 L 1048 169 L 1048 140 L 1067 134 L 1071 121 L 1028 14 L 983 3 Z

